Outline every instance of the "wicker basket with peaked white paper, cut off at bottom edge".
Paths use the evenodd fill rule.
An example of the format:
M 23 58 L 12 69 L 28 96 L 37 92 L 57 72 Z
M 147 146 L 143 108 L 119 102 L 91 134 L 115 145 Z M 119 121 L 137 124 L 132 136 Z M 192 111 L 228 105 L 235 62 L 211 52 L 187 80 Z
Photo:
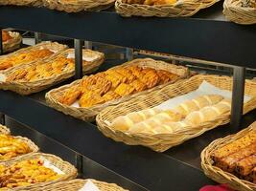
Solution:
M 43 187 L 44 191 L 62 191 L 62 190 L 72 190 L 72 191 L 81 191 L 81 190 L 101 190 L 101 191 L 128 191 L 124 188 L 118 186 L 115 183 L 107 183 L 105 181 L 99 180 L 69 180 L 62 181 L 55 184 L 51 184 Z M 31 191 L 36 191 L 32 189 Z

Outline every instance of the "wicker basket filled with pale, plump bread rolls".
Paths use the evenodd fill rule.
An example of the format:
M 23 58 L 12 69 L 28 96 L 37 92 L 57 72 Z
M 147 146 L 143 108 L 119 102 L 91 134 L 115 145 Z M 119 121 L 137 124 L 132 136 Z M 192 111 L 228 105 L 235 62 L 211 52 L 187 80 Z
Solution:
M 201 84 L 209 84 L 212 89 L 218 88 L 218 91 L 232 95 L 232 78 L 198 74 L 148 95 L 105 108 L 96 117 L 98 128 L 106 137 L 116 141 L 164 152 L 229 122 L 230 97 L 221 96 L 218 91 L 198 94 Z M 255 82 L 246 80 L 245 94 L 251 98 L 244 103 L 244 113 L 255 108 L 255 88 Z M 172 107 L 160 107 L 168 102 Z

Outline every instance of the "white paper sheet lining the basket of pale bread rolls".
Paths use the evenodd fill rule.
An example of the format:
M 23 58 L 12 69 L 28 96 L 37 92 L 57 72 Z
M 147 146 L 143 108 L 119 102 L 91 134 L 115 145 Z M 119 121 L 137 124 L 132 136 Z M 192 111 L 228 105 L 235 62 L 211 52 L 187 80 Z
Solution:
M 204 96 L 204 95 L 220 95 L 225 98 L 231 99 L 232 92 L 228 90 L 221 90 L 220 88 L 204 80 L 196 91 L 190 92 L 182 96 L 175 96 L 174 98 L 171 98 L 161 103 L 160 105 L 157 105 L 155 108 L 160 110 L 173 109 L 175 108 L 175 106 L 179 105 L 185 100 L 193 99 L 197 96 Z M 251 96 L 244 95 L 244 103 L 247 102 L 249 99 L 251 99 Z

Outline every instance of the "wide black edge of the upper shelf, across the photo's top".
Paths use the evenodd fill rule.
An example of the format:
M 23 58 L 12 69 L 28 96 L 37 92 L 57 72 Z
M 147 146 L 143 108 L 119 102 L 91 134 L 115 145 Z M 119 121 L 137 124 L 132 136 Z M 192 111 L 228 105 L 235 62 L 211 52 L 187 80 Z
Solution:
M 0 27 L 255 68 L 256 25 L 219 19 L 221 3 L 211 9 L 209 16 L 205 9 L 191 18 L 123 18 L 114 11 L 66 13 L 5 6 L 0 7 Z

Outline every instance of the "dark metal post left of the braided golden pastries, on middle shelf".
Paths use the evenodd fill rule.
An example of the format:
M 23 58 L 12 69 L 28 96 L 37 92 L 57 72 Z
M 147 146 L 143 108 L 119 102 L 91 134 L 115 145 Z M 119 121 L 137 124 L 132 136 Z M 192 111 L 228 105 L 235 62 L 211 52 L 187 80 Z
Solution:
M 75 39 L 75 77 L 76 79 L 80 79 L 82 77 L 82 45 L 81 40 Z

